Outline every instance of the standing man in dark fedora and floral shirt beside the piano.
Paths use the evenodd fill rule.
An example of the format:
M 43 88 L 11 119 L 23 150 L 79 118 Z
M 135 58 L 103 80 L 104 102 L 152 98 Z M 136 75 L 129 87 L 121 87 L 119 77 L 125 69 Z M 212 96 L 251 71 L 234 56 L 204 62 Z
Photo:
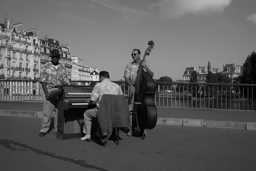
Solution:
M 40 70 L 39 82 L 42 84 L 44 89 L 42 95 L 43 101 L 43 116 L 42 116 L 42 128 L 40 129 L 39 136 L 43 137 L 48 133 L 51 118 L 54 117 L 54 133 L 57 132 L 57 114 L 58 109 L 55 107 L 57 98 L 50 98 L 49 93 L 57 90 L 58 84 L 68 84 L 68 76 L 66 73 L 65 66 L 59 63 L 60 52 L 58 49 L 51 51 L 51 61 L 45 63 Z

